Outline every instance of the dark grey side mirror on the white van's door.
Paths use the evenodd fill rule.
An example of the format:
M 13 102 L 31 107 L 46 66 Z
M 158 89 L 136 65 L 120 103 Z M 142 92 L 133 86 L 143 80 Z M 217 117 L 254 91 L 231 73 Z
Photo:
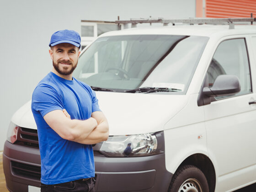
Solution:
M 219 75 L 211 88 L 204 87 L 203 95 L 209 97 L 229 96 L 241 90 L 240 82 L 235 75 Z

